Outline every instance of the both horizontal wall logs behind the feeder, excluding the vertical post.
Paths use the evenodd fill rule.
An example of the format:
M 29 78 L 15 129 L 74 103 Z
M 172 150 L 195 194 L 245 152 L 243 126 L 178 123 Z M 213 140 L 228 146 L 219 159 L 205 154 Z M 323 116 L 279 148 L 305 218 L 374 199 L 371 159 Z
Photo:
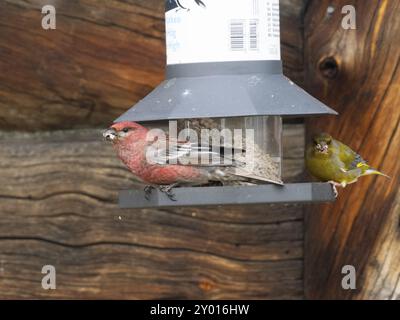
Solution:
M 302 298 L 302 206 L 117 206 L 133 183 L 99 128 L 163 78 L 163 1 L 57 1 L 54 31 L 42 2 L 0 2 L 0 298 Z M 281 5 L 285 72 L 302 83 L 303 3 Z M 285 145 L 296 180 L 303 125 Z

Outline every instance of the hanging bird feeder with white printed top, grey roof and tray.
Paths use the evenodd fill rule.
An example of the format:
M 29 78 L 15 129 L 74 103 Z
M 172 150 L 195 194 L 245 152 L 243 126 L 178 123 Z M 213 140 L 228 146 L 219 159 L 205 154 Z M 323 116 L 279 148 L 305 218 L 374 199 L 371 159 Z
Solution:
M 259 160 L 252 174 L 273 183 L 176 188 L 177 201 L 161 192 L 146 199 L 143 190 L 124 190 L 120 206 L 333 200 L 326 183 L 279 185 L 282 117 L 337 114 L 283 75 L 279 0 L 166 0 L 165 21 L 166 80 L 115 122 L 174 122 L 179 131 L 199 136 L 204 128 L 251 132 L 253 158 Z M 240 140 L 238 149 L 246 143 Z

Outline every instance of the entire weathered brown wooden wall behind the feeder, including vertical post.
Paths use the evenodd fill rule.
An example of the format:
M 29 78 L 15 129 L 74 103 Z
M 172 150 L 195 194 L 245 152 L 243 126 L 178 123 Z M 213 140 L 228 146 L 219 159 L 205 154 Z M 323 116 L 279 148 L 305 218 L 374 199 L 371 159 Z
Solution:
M 120 210 L 100 138 L 163 78 L 163 1 L 0 2 L 0 298 L 398 299 L 400 5 L 280 0 L 284 72 L 340 112 L 308 122 L 392 176 L 329 205 Z M 357 30 L 340 27 L 352 4 Z M 304 127 L 285 126 L 286 181 Z M 41 267 L 57 289 L 41 288 Z M 354 265 L 357 289 L 343 290 Z

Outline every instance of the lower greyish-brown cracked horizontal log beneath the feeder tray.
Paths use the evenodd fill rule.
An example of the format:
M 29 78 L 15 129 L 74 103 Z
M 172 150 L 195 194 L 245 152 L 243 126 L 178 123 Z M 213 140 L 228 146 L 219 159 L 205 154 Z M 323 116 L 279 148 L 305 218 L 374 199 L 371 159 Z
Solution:
M 99 130 L 0 133 L 0 298 L 302 298 L 302 206 L 119 209 L 132 186 Z

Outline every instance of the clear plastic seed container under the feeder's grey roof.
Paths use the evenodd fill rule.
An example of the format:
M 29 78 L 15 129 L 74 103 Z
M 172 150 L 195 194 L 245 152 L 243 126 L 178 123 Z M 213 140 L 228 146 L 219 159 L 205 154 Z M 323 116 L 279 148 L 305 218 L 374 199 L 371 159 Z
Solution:
M 196 133 L 200 144 L 222 146 L 238 166 L 240 173 L 254 178 L 255 183 L 281 182 L 282 118 L 256 116 L 234 118 L 204 118 L 178 121 L 178 132 Z M 190 129 L 190 130 L 188 130 Z M 210 130 L 208 141 L 202 130 Z M 182 137 L 182 135 L 181 135 Z

